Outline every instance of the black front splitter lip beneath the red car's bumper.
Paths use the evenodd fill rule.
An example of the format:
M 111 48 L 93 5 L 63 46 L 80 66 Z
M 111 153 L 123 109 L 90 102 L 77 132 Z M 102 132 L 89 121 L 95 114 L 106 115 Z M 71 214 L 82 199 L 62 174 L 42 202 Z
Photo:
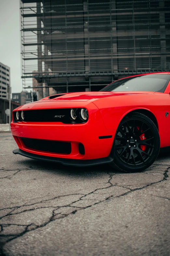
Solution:
M 106 163 L 111 163 L 113 161 L 113 158 L 111 156 L 108 156 L 105 158 L 92 159 L 92 160 L 75 160 L 75 159 L 47 157 L 47 156 L 40 156 L 40 155 L 28 153 L 19 148 L 13 150 L 13 153 L 19 154 L 21 156 L 29 157 L 35 160 L 55 162 L 55 163 L 61 163 L 67 166 L 79 166 L 79 167 L 106 164 Z

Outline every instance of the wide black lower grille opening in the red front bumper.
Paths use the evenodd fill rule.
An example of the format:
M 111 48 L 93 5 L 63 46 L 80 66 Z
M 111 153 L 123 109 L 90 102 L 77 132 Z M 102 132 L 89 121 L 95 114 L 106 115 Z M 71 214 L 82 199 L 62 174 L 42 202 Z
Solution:
M 59 154 L 71 153 L 70 142 L 37 140 L 37 139 L 30 139 L 30 138 L 21 138 L 21 140 L 26 147 L 29 147 L 32 149 L 47 151 L 51 153 L 59 153 Z

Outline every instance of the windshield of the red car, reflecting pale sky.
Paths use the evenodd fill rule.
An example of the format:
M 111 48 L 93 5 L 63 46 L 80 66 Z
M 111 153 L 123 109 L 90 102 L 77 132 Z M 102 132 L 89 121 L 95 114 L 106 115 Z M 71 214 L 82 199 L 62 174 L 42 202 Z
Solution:
M 128 77 L 117 80 L 100 92 L 160 92 L 163 93 L 170 80 L 170 75 L 155 74 Z

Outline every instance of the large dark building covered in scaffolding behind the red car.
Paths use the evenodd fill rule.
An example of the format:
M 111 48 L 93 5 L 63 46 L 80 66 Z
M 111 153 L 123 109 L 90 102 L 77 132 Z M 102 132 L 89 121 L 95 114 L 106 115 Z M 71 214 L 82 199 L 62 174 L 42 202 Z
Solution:
M 35 84 L 39 98 L 49 87 L 98 91 L 121 77 L 170 70 L 170 4 L 21 0 L 21 45 L 23 88 Z

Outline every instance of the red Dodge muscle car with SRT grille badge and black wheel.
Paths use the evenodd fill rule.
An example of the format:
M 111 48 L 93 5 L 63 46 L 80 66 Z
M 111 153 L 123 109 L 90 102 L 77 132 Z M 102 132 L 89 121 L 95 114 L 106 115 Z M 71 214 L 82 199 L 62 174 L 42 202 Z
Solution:
M 13 111 L 14 154 L 64 165 L 111 163 L 139 172 L 170 146 L 170 73 L 117 80 L 100 92 L 63 93 Z

